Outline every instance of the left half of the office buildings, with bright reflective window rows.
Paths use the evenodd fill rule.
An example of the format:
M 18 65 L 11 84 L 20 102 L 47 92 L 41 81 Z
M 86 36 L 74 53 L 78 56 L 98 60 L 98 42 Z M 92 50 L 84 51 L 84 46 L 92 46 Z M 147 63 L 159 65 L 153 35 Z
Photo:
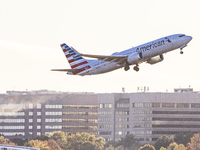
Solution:
M 0 134 L 32 139 L 53 131 L 97 134 L 97 96 L 12 93 L 0 96 Z

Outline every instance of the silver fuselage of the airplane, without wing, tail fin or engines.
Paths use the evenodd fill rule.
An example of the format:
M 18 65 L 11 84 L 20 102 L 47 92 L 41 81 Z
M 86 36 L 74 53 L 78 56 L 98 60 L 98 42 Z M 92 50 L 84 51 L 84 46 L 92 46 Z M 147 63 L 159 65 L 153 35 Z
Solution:
M 187 43 L 190 42 L 192 39 L 191 36 L 185 36 L 184 34 L 175 34 L 166 36 L 130 49 L 127 49 L 125 51 L 121 51 L 118 53 L 114 53 L 112 56 L 127 56 L 127 64 L 124 63 L 116 63 L 111 61 L 102 61 L 102 60 L 93 60 L 90 69 L 87 69 L 85 71 L 82 71 L 79 73 L 79 75 L 93 75 L 93 74 L 101 74 L 110 72 L 119 68 L 124 67 L 125 65 L 138 65 L 142 62 L 148 62 L 153 57 L 162 55 L 164 53 L 167 53 L 169 51 L 175 50 L 175 49 L 182 49 L 184 48 Z M 140 54 L 142 58 L 137 61 L 130 61 L 131 57 L 129 56 Z

